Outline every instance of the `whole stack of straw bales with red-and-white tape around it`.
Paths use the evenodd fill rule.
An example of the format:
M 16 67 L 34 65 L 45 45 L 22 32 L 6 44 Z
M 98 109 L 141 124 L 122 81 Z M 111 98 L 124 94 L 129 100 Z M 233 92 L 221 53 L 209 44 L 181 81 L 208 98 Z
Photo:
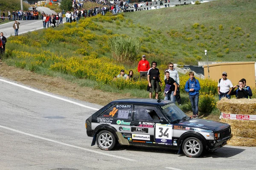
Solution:
M 231 126 L 232 138 L 227 142 L 228 144 L 256 146 L 256 99 L 222 98 L 217 102 L 217 108 L 221 113 L 230 114 L 228 117 L 226 116 L 229 119 L 221 119 L 220 121 Z

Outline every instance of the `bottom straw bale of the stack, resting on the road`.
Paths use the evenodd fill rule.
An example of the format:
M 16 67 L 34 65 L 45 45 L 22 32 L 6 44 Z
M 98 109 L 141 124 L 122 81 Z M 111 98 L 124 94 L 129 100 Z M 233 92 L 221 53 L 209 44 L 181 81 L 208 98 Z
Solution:
M 227 144 L 230 144 L 233 146 L 254 147 L 256 146 L 256 139 L 232 136 L 232 138 L 229 141 L 227 141 Z

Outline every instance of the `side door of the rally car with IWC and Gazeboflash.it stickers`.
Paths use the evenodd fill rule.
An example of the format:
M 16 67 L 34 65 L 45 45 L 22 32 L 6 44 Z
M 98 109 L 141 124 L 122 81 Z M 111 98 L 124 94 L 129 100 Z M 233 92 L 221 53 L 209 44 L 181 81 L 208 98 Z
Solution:
M 134 105 L 131 138 L 134 144 L 155 144 L 154 126 L 163 118 L 155 106 Z

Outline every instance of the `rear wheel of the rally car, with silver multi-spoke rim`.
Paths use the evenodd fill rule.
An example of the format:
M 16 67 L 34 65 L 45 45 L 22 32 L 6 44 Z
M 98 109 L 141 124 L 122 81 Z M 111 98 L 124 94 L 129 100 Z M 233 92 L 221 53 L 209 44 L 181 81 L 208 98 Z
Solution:
M 116 137 L 108 130 L 102 130 L 97 134 L 96 142 L 101 150 L 112 150 L 116 145 Z

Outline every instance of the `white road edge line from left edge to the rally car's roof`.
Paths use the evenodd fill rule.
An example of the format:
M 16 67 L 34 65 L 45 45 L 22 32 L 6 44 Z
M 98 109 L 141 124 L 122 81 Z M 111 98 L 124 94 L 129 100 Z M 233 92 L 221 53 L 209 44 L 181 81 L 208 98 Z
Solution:
M 73 103 L 73 104 L 75 104 L 75 105 L 79 105 L 79 106 L 84 107 L 84 108 L 88 108 L 88 109 L 92 109 L 92 110 L 95 110 L 95 111 L 99 111 L 99 109 L 97 109 L 97 108 L 92 108 L 92 107 L 90 107 L 90 106 L 82 105 L 82 104 L 80 104 L 80 103 L 78 103 L 78 102 L 73 102 L 73 101 L 68 100 L 68 99 L 64 99 L 64 98 L 61 98 L 61 97 L 58 97 L 58 96 L 54 96 L 54 95 L 51 95 L 51 94 L 47 94 L 47 93 L 44 93 L 44 92 L 42 92 L 42 91 L 38 91 L 38 90 L 35 90 L 35 89 L 32 89 L 32 88 L 26 87 L 26 86 L 24 86 L 24 85 L 19 85 L 19 84 L 17 84 L 17 83 L 9 82 L 9 81 L 6 81 L 6 80 L 4 80 L 4 79 L 0 79 L 0 81 L 9 83 L 9 84 L 11 84 L 11 85 L 16 85 L 16 86 L 18 86 L 18 87 L 20 87 L 20 88 L 25 88 L 25 89 L 27 89 L 27 90 L 34 91 L 34 92 L 36 92 L 36 93 L 43 94 L 43 95 L 46 95 L 46 96 L 49 96 L 49 97 L 52 97 L 52 98 L 55 98 L 55 99 L 63 100 L 63 101 L 65 101 L 65 102 L 70 102 L 70 103 Z

